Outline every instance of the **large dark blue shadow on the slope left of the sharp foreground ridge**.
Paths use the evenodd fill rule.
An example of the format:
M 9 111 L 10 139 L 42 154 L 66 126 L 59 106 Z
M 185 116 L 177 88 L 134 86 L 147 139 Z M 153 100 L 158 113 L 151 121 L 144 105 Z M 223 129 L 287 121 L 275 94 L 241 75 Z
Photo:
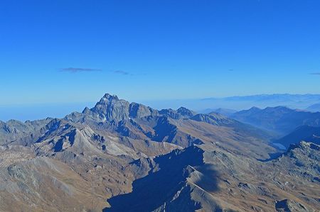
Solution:
M 200 203 L 191 200 L 191 188 L 186 184 L 186 178 L 194 171 L 193 167 L 205 165 L 203 152 L 199 147 L 191 146 L 156 157 L 154 161 L 159 165 L 159 171 L 150 172 L 146 177 L 134 181 L 132 193 L 108 199 L 111 208 L 103 211 L 153 211 L 164 203 L 169 203 L 178 191 L 181 191 L 181 196 L 171 202 L 172 207 L 177 204 L 178 211 L 195 211 L 201 208 Z M 205 182 L 208 183 L 207 180 Z M 213 184 L 208 187 L 210 190 L 217 188 L 214 178 L 210 182 Z M 199 186 L 200 184 L 206 185 L 201 181 Z

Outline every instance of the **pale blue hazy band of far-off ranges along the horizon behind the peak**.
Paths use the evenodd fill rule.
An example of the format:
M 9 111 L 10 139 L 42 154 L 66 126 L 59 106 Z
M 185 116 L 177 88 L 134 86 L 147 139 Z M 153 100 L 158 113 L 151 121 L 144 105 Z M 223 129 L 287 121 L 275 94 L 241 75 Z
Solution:
M 245 110 L 252 106 L 259 108 L 287 106 L 308 111 L 309 106 L 320 103 L 320 94 L 261 94 L 207 99 L 160 99 L 142 101 L 142 103 L 159 110 L 162 108 L 180 108 L 181 106 L 185 106 L 198 113 L 218 112 L 223 115 L 229 115 L 230 112 Z M 93 105 L 95 105 L 95 102 L 0 106 L 0 120 L 8 121 L 11 118 L 16 118 L 25 121 L 41 119 L 47 116 L 62 118 L 65 114 L 72 111 L 80 111 L 85 106 Z M 317 111 L 317 108 L 311 107 L 310 111 Z

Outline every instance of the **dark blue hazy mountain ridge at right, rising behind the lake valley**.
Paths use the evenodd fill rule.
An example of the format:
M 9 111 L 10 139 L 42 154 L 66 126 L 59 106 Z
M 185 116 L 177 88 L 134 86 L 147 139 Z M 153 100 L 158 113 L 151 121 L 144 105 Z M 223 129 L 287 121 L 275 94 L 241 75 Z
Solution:
M 233 113 L 230 117 L 279 135 L 291 133 L 301 125 L 320 126 L 320 113 L 293 110 L 282 106 L 265 109 L 252 107 L 249 110 Z

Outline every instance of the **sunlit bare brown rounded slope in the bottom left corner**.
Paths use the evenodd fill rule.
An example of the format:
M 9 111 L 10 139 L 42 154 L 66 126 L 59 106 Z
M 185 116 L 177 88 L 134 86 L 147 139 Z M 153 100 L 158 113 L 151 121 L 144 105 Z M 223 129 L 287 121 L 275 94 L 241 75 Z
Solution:
M 107 206 L 70 165 L 36 157 L 30 147 L 0 150 L 0 211 L 82 211 Z M 86 192 L 83 192 L 86 191 Z

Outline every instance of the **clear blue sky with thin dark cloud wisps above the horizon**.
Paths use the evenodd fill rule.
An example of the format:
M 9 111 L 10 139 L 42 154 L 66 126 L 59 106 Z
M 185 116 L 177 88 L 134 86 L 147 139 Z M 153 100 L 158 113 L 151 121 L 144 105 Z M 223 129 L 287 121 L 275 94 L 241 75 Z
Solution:
M 319 9 L 319 0 L 1 0 L 0 106 L 106 92 L 320 93 Z

